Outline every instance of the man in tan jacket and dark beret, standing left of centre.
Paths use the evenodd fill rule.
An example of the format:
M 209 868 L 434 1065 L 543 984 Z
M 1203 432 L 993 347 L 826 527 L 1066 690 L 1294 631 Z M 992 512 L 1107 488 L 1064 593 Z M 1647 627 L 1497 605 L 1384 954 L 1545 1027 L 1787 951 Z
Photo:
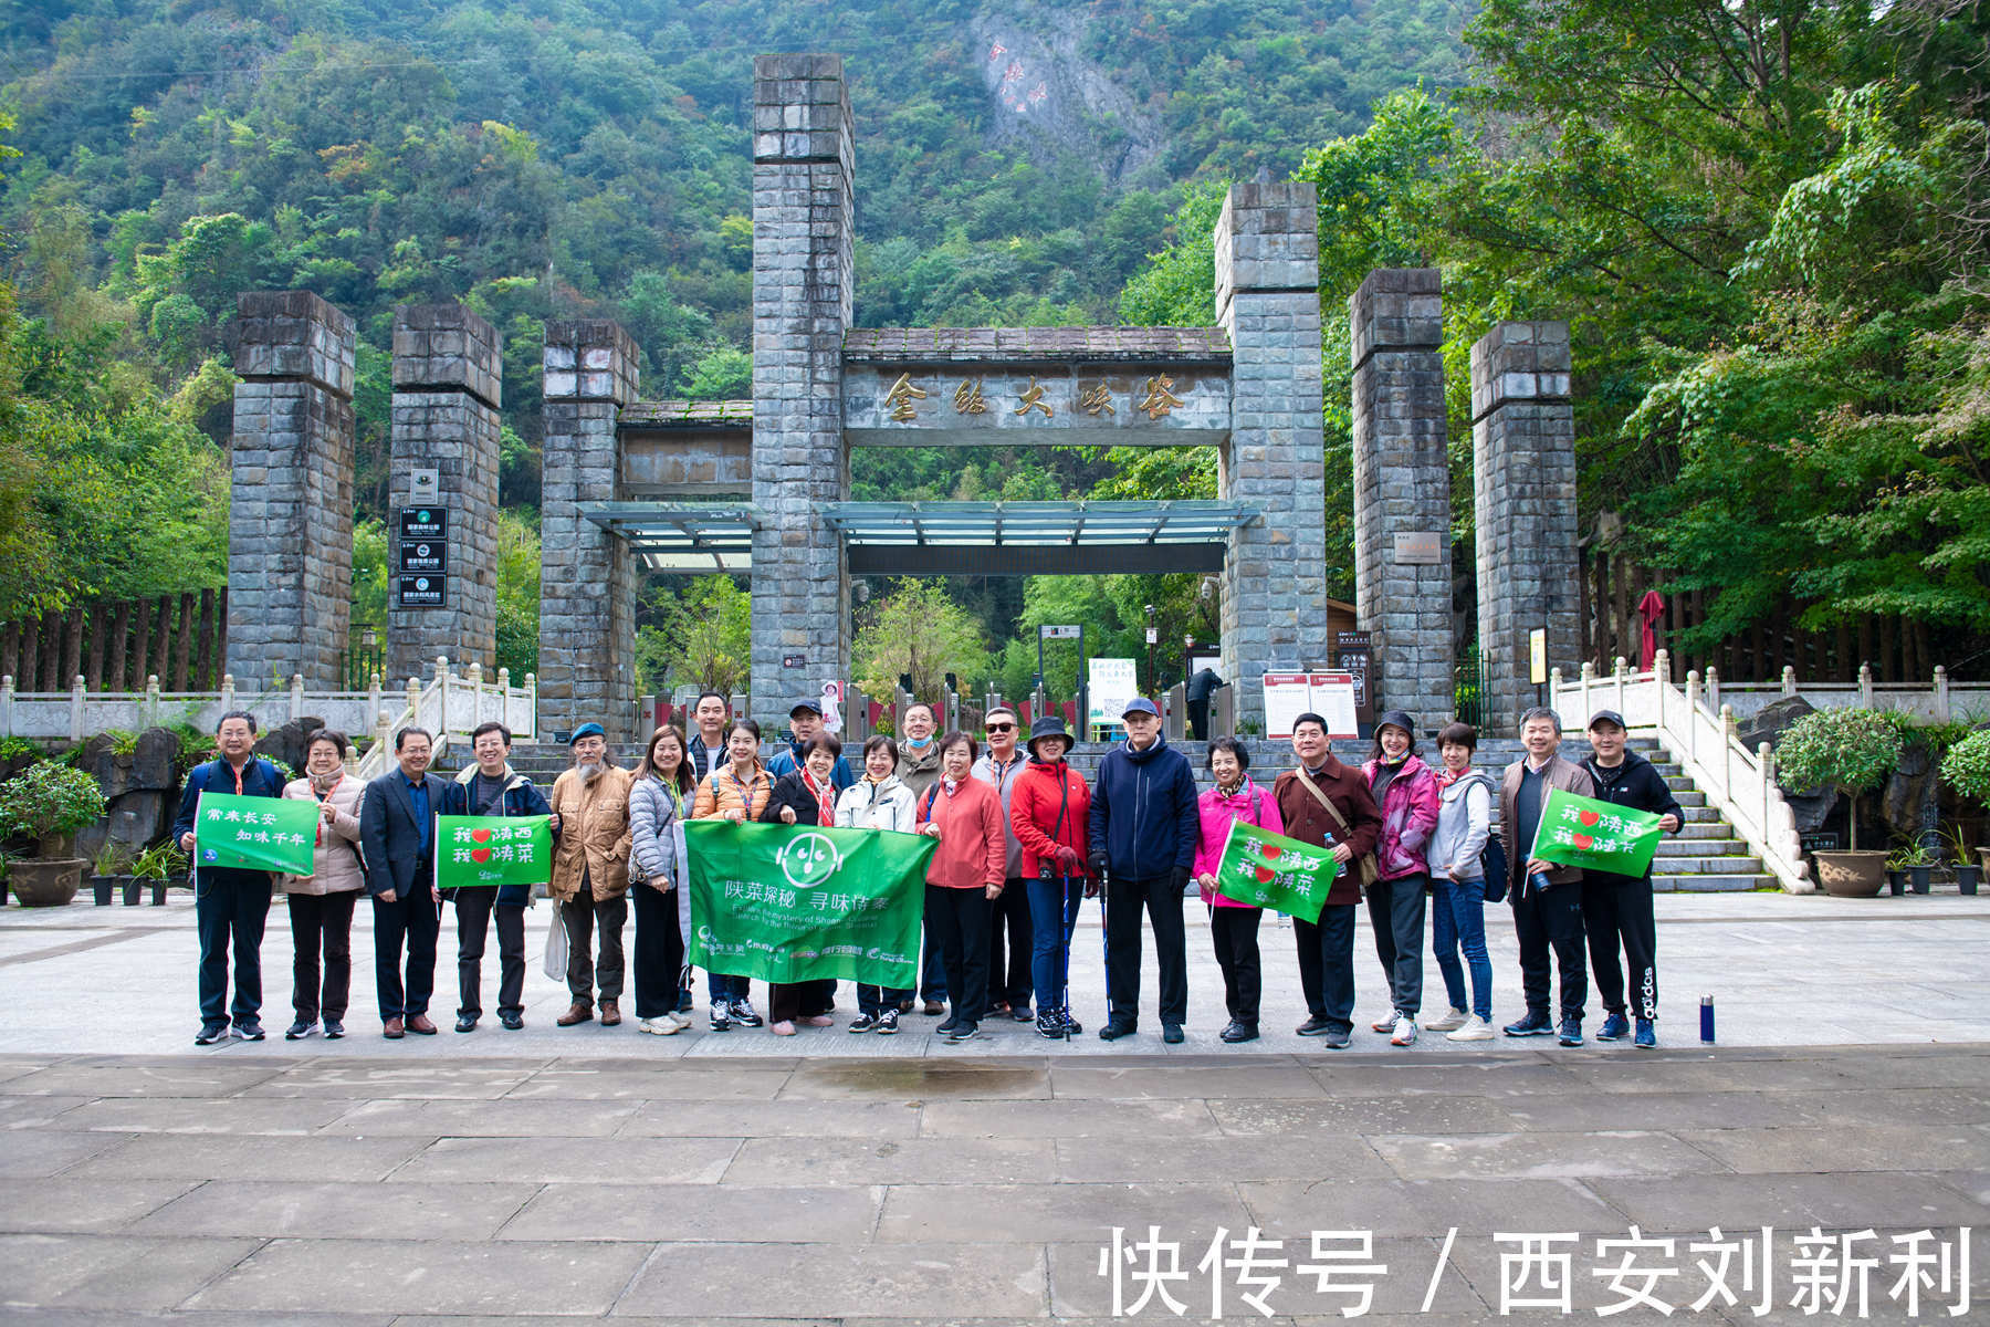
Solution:
M 559 1027 L 595 1017 L 593 931 L 601 931 L 601 1027 L 621 1023 L 623 947 L 629 919 L 629 784 L 635 776 L 609 760 L 601 724 L 573 730 L 573 768 L 553 780 L 553 879 L 547 893 L 567 927 L 567 991 L 573 1005 Z

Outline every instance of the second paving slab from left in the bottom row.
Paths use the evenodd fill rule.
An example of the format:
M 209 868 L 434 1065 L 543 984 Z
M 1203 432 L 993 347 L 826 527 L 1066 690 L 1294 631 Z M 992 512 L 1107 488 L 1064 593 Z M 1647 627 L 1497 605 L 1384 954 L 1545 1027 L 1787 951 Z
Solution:
M 273 1239 L 189 1309 L 603 1315 L 649 1249 L 631 1243 Z

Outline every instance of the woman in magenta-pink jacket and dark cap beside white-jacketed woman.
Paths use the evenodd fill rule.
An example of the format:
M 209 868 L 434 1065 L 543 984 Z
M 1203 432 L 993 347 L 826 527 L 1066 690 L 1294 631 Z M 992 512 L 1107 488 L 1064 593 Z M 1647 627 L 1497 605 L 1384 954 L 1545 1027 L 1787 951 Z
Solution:
M 1389 710 L 1375 722 L 1375 754 L 1361 774 L 1381 808 L 1377 879 L 1367 899 L 1391 1003 L 1389 1015 L 1377 1019 L 1373 1029 L 1389 1033 L 1395 1046 L 1411 1046 L 1423 1005 L 1423 891 L 1431 885 L 1423 848 L 1437 828 L 1441 800 L 1437 776 L 1417 758 L 1417 724 L 1409 714 Z

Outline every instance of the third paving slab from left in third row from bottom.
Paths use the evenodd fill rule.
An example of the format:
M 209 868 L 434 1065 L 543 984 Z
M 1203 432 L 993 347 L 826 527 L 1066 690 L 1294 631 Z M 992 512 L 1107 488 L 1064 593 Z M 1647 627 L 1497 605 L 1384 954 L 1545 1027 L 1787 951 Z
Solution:
M 394 1182 L 718 1184 L 738 1138 L 438 1138 Z

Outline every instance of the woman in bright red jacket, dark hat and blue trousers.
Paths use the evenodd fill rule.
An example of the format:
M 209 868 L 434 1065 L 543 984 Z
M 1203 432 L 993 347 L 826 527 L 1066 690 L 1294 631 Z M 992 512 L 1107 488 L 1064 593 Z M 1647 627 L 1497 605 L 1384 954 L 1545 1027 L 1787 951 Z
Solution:
M 1093 798 L 1065 762 L 1071 734 L 1045 714 L 1029 726 L 1029 766 L 1009 796 L 1009 828 L 1023 846 L 1029 881 L 1029 977 L 1037 989 L 1037 1033 L 1065 1041 L 1085 1031 L 1071 1017 L 1071 931 L 1079 903 L 1096 885 L 1085 879 L 1085 836 Z

